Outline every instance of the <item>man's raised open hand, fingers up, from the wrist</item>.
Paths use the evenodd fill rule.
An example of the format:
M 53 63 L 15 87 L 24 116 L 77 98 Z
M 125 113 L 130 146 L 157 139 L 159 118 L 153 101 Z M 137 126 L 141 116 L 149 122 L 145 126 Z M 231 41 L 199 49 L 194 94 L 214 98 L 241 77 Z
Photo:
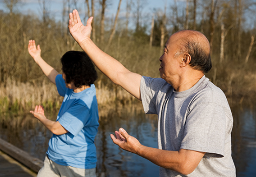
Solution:
M 78 44 L 82 44 L 90 39 L 91 22 L 93 22 L 93 17 L 90 17 L 86 26 L 84 26 L 76 9 L 73 10 L 73 13 L 69 13 L 69 32 Z

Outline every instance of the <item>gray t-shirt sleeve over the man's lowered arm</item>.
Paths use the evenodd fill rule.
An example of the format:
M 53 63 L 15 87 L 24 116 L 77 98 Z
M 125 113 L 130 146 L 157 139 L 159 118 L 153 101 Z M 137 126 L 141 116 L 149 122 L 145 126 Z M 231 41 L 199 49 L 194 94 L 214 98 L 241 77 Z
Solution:
M 215 103 L 198 103 L 188 112 L 181 148 L 222 157 L 225 152 L 225 136 L 224 108 Z

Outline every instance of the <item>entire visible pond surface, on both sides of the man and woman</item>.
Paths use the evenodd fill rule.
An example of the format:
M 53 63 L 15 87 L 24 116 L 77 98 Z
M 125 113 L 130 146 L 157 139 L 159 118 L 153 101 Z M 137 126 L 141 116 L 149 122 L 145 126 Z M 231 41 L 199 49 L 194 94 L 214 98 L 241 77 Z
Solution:
M 159 167 L 115 145 L 110 134 L 123 127 L 141 144 L 157 148 L 157 117 L 145 115 L 141 104 L 99 107 L 100 126 L 95 138 L 97 176 L 159 176 Z M 256 176 L 256 105 L 231 107 L 234 126 L 232 156 L 237 176 Z M 55 120 L 57 113 L 48 113 Z M 44 160 L 51 132 L 30 114 L 0 117 L 0 138 Z

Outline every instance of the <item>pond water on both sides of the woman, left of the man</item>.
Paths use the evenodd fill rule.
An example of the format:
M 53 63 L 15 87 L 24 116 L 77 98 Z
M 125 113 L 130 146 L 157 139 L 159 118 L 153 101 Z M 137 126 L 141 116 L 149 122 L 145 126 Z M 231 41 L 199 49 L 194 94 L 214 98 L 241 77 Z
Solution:
M 116 146 L 110 134 L 120 127 L 140 140 L 141 144 L 157 147 L 157 117 L 145 115 L 141 104 L 99 107 L 100 126 L 95 137 L 97 176 L 158 176 L 159 167 L 152 162 Z M 55 120 L 57 113 L 47 115 Z M 11 144 L 44 159 L 51 132 L 30 114 L 9 114 L 0 118 L 0 137 Z

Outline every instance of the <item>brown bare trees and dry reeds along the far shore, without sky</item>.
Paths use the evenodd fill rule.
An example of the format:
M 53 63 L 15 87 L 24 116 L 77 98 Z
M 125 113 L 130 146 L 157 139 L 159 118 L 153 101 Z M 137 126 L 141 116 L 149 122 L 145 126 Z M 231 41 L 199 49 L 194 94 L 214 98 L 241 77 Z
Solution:
M 159 58 L 168 37 L 182 29 L 201 31 L 209 39 L 212 50 L 213 67 L 206 77 L 224 91 L 232 104 L 241 104 L 247 99 L 254 101 L 256 29 L 243 25 L 248 23 L 245 10 L 251 1 L 238 4 L 237 1 L 224 0 L 215 3 L 216 11 L 206 14 L 204 9 L 211 9 L 212 2 L 204 1 L 201 6 L 189 2 L 188 6 L 194 6 L 194 9 L 180 9 L 189 16 L 195 12 L 197 16 L 202 13 L 201 20 L 185 18 L 181 15 L 185 13 L 171 13 L 175 12 L 175 8 L 170 8 L 169 14 L 156 9 L 152 23 L 147 21 L 151 25 L 136 23 L 136 29 L 123 27 L 128 24 L 129 18 L 118 19 L 115 22 L 117 25 L 111 23 L 112 19 L 105 18 L 104 23 L 108 25 L 102 26 L 104 23 L 101 19 L 104 18 L 101 6 L 96 6 L 98 9 L 95 10 L 92 39 L 100 49 L 119 60 L 128 70 L 142 76 L 159 77 Z M 15 5 L 17 8 L 17 4 L 12 5 L 7 4 L 6 8 Z M 37 45 L 40 44 L 42 58 L 61 73 L 61 56 L 70 50 L 81 51 L 69 34 L 68 13 L 63 10 L 62 22 L 56 22 L 50 13 L 41 18 L 35 14 L 24 15 L 14 9 L 9 10 L 9 13 L 0 10 L 0 114 L 28 112 L 38 104 L 46 110 L 56 111 L 63 98 L 58 96 L 55 85 L 49 83 L 40 67 L 29 56 L 28 42 L 34 39 Z M 126 13 L 129 15 L 132 11 L 128 10 Z M 253 11 L 246 13 L 247 16 L 253 14 Z M 146 20 L 141 18 L 141 21 Z M 139 103 L 120 86 L 111 83 L 100 71 L 97 70 L 97 73 L 95 86 L 99 107 Z

